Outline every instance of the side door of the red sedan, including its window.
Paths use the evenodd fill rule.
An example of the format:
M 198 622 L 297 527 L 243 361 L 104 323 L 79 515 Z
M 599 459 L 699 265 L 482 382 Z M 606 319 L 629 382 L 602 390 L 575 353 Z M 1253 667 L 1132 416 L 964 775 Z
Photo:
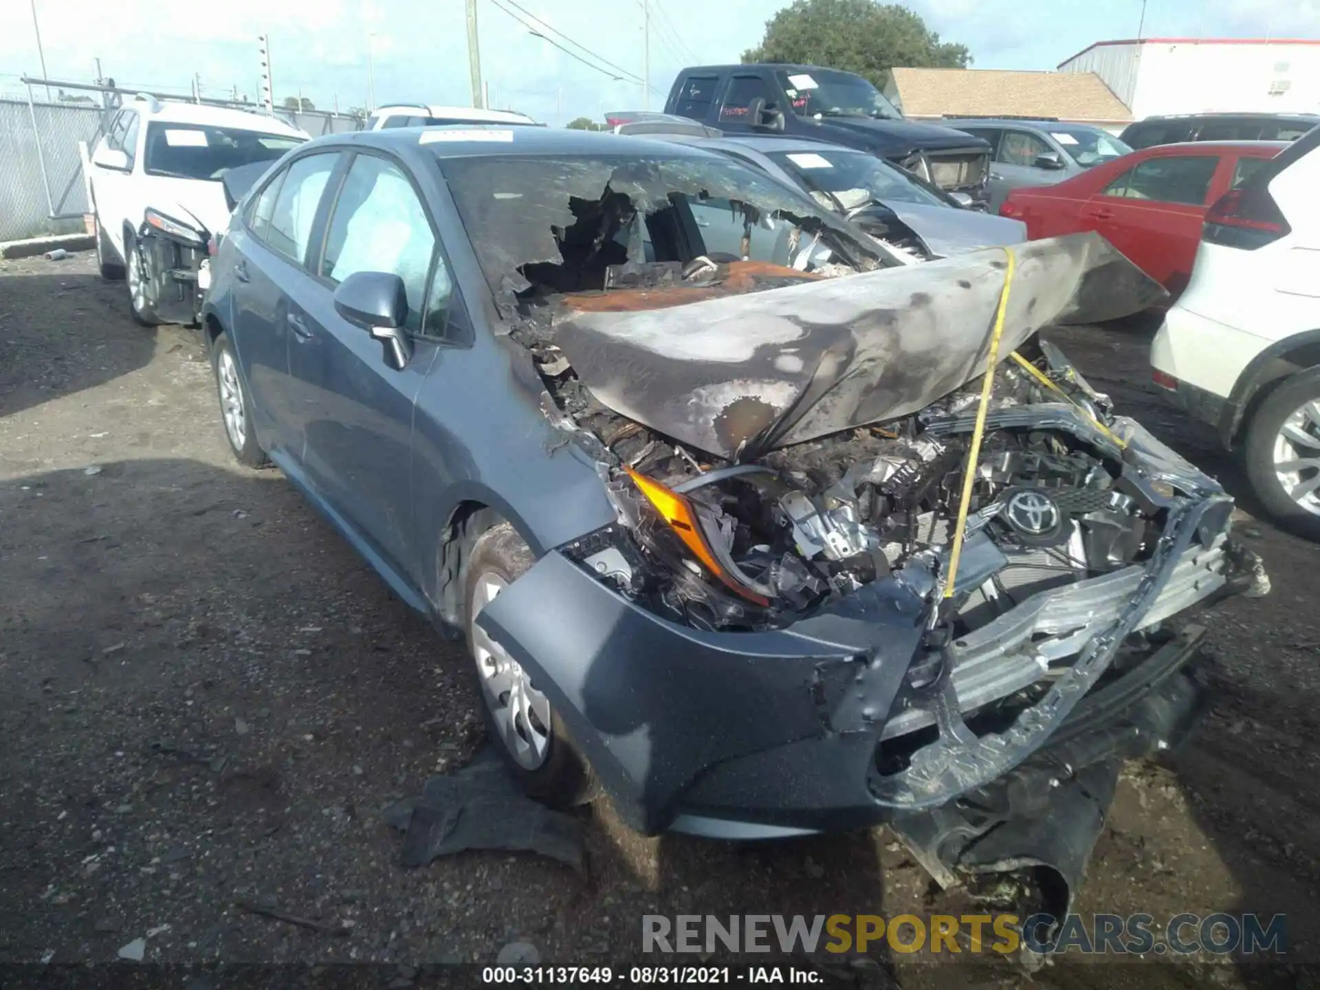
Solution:
M 1218 187 L 1217 153 L 1150 154 L 1109 182 L 1081 210 L 1082 227 L 1172 293 L 1187 286 L 1201 223 Z

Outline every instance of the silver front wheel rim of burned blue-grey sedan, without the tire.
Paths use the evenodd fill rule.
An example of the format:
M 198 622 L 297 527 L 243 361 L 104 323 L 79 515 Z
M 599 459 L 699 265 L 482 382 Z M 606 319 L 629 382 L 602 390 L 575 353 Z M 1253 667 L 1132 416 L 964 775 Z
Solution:
M 524 770 L 537 770 L 550 750 L 550 702 L 532 686 L 521 665 L 477 624 L 482 609 L 507 587 L 499 574 L 482 574 L 473 590 L 473 655 L 482 697 L 510 755 Z

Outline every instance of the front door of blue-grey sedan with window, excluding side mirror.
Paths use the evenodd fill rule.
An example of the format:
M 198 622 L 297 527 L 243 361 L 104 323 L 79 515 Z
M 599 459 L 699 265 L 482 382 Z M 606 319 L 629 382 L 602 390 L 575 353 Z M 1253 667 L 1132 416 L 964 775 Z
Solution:
M 436 244 L 404 170 L 359 153 L 330 209 L 315 263 L 319 281 L 297 301 L 301 326 L 289 339 L 309 480 L 374 553 L 408 577 L 416 576 L 420 553 L 411 539 L 413 404 L 437 351 L 424 335 Z M 381 343 L 334 309 L 334 288 L 368 271 L 404 281 L 413 354 L 403 368 L 387 363 Z

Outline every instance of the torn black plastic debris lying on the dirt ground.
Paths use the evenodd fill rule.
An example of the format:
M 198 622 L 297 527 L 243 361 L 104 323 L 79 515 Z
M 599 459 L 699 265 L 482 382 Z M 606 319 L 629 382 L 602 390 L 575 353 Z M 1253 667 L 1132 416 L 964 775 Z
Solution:
M 490 750 L 454 774 L 430 777 L 421 797 L 399 801 L 384 814 L 405 833 L 404 866 L 465 849 L 540 853 L 574 870 L 583 865 L 582 824 L 524 795 Z

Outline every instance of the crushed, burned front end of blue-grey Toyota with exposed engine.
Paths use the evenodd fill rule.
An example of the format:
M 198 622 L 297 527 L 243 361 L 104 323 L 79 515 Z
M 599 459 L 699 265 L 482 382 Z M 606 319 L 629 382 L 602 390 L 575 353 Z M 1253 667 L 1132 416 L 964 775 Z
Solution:
M 1121 762 L 1196 722 L 1189 610 L 1263 569 L 1036 337 L 1163 293 L 1094 235 L 1012 251 L 630 263 L 512 334 L 616 517 L 478 623 L 635 828 L 887 822 L 940 883 L 1061 909 Z

